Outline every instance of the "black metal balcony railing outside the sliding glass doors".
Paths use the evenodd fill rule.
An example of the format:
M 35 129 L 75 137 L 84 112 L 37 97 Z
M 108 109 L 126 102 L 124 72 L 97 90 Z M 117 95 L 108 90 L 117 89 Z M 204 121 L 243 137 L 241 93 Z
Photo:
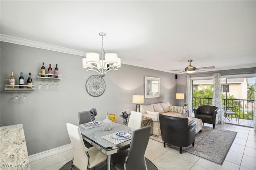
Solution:
M 238 103 L 237 115 L 240 119 L 254 120 L 254 100 L 222 99 L 223 105 L 230 106 L 234 103 Z M 206 104 L 212 104 L 212 98 L 193 98 L 193 109 Z

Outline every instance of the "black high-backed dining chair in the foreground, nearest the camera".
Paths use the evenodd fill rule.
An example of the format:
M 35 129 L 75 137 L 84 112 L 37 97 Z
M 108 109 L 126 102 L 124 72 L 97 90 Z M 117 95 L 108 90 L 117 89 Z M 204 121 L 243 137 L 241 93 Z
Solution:
M 151 126 L 136 129 L 132 135 L 130 149 L 111 155 L 111 169 L 114 170 L 146 170 L 145 151 Z

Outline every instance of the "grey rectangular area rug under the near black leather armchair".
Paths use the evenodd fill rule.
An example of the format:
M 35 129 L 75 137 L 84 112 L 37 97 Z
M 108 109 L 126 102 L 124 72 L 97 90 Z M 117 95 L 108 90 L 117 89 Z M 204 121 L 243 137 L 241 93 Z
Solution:
M 216 127 L 213 129 L 212 127 L 203 126 L 202 132 L 196 134 L 194 147 L 192 145 L 183 147 L 182 152 L 186 151 L 222 165 L 236 137 L 236 133 L 234 131 L 217 129 Z M 150 139 L 164 143 L 161 136 L 151 135 Z M 174 148 L 179 149 L 179 147 Z

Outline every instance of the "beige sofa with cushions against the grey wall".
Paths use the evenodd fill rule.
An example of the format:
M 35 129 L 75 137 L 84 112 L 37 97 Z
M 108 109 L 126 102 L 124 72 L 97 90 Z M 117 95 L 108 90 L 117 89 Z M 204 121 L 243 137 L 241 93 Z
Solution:
M 174 117 L 184 117 L 185 109 L 183 109 L 181 106 L 171 106 L 169 102 L 164 102 L 150 105 L 140 105 L 140 112 L 142 112 L 142 116 L 150 117 L 152 119 L 152 134 L 159 136 L 161 135 L 161 130 L 158 114 L 163 113 L 164 115 Z

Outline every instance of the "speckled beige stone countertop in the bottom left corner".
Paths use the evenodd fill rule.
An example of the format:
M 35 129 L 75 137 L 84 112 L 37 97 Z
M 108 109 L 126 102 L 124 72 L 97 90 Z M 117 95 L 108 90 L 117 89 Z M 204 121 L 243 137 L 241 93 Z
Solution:
M 30 170 L 22 124 L 0 127 L 1 170 Z

